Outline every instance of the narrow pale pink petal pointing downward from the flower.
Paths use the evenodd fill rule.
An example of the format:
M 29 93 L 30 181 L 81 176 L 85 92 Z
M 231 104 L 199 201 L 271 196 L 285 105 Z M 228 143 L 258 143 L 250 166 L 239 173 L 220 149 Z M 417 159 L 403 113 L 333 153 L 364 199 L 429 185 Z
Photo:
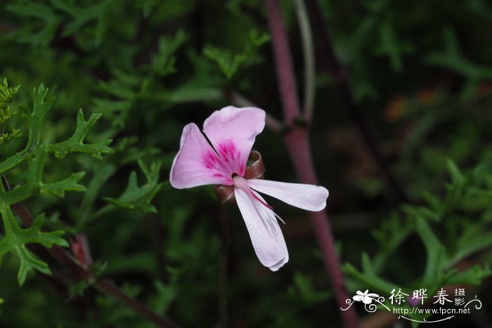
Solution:
M 278 270 L 289 261 L 289 254 L 273 212 L 247 190 L 234 188 L 234 194 L 259 261 L 272 271 Z

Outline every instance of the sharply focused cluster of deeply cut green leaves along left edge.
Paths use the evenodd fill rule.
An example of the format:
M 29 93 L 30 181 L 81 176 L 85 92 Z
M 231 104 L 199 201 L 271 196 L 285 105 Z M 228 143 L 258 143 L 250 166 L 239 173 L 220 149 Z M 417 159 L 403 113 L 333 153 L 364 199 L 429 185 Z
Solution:
M 1 94 L 4 104 L 8 107 L 17 88 L 8 88 L 7 82 L 4 81 Z M 25 175 L 26 180 L 22 185 L 17 186 L 10 190 L 10 188 L 0 188 L 0 214 L 4 225 L 5 236 L 0 240 L 0 259 L 7 253 L 13 253 L 18 257 L 20 261 L 20 268 L 18 270 L 18 282 L 20 285 L 24 284 L 27 273 L 30 270 L 39 270 L 41 273 L 50 274 L 51 271 L 48 265 L 37 258 L 27 248 L 27 244 L 41 244 L 44 247 L 52 247 L 53 244 L 59 246 L 68 246 L 66 240 L 61 236 L 65 234 L 64 231 L 57 230 L 53 232 L 42 232 L 41 228 L 44 222 L 44 216 L 38 216 L 32 226 L 28 228 L 20 228 L 15 216 L 11 210 L 11 205 L 18 204 L 37 195 L 51 194 L 58 197 L 65 197 L 67 191 L 79 191 L 84 192 L 86 188 L 84 185 L 80 185 L 79 181 L 84 176 L 84 172 L 71 173 L 68 178 L 58 180 L 55 182 L 45 183 L 43 182 L 44 167 L 48 156 L 48 143 L 44 142 L 40 144 L 41 131 L 44 122 L 44 116 L 53 105 L 54 98 L 46 98 L 48 89 L 44 88 L 41 84 L 38 88 L 34 88 L 33 98 L 33 110 L 27 114 L 28 118 L 28 130 L 29 135 L 27 139 L 27 145 L 24 150 L 17 152 L 15 155 L 4 159 L 0 166 L 2 167 L 2 182 L 6 184 L 6 180 L 3 178 L 3 174 L 20 166 L 22 162 L 27 160 L 27 173 Z M 80 148 L 84 146 L 82 140 L 89 132 L 89 129 L 96 122 L 96 119 L 89 119 L 89 122 L 84 121 L 82 110 L 79 112 L 82 119 L 79 119 L 75 136 L 60 144 L 55 144 L 56 150 L 66 150 L 67 152 L 81 151 Z M 92 122 L 91 122 L 92 121 Z M 65 148 L 63 147 L 65 145 Z M 101 152 L 109 152 L 108 143 L 98 143 L 97 145 L 86 145 L 91 147 L 92 152 L 96 152 L 98 157 L 101 157 Z M 52 145 L 53 146 L 53 145 Z M 82 149 L 84 151 L 84 149 Z M 87 152 L 87 151 L 86 151 Z M 59 156 L 60 157 L 60 156 Z M 23 214 L 29 215 L 29 214 Z

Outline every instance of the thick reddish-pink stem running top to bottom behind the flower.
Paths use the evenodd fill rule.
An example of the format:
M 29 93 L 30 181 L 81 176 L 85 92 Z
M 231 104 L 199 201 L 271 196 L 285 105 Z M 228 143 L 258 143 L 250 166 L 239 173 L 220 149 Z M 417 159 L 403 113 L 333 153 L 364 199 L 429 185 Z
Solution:
M 277 79 L 280 96 L 283 102 L 285 122 L 292 124 L 292 119 L 299 114 L 299 103 L 294 84 L 292 60 L 287 42 L 287 32 L 283 24 L 282 13 L 278 0 L 265 0 L 268 25 L 270 26 L 273 53 L 277 65 Z M 308 131 L 304 126 L 294 126 L 285 134 L 285 143 L 290 152 L 299 181 L 302 183 L 317 184 L 316 173 L 309 147 Z M 349 299 L 345 288 L 344 277 L 340 268 L 339 259 L 335 250 L 332 231 L 328 223 L 328 214 L 325 210 L 311 213 L 311 223 L 323 254 L 323 260 L 332 282 L 333 291 L 338 307 L 345 307 L 345 300 Z M 357 315 L 354 308 L 341 311 L 344 327 L 358 327 Z

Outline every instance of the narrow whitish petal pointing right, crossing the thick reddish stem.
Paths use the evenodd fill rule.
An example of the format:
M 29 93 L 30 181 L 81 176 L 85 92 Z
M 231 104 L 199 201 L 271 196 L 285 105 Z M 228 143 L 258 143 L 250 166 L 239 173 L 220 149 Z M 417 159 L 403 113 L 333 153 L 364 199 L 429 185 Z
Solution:
M 248 180 L 247 183 L 254 190 L 308 211 L 321 211 L 325 208 L 328 198 L 328 190 L 317 185 L 261 179 Z

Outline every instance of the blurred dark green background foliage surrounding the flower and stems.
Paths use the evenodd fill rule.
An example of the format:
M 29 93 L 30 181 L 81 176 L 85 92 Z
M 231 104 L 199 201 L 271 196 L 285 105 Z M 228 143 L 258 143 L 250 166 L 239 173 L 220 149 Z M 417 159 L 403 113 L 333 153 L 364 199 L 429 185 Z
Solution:
M 297 8 L 294 1 L 280 3 L 302 98 Z M 330 190 L 327 209 L 349 294 L 370 289 L 387 298 L 389 286 L 429 294 L 460 286 L 483 307 L 433 327 L 491 327 L 492 4 L 320 3 L 354 100 L 410 197 L 410 203 L 396 197 L 368 152 L 336 81 L 319 64 L 326 54 L 312 27 L 310 140 L 320 184 Z M 41 83 L 56 97 L 41 142 L 72 136 L 79 108 L 85 119 L 102 113 L 86 142 L 112 139 L 114 153 L 50 155 L 44 167 L 43 181 L 85 171 L 79 184 L 86 192 L 24 202 L 34 216 L 45 214 L 46 230 L 64 230 L 69 241 L 86 235 L 96 276 L 183 327 L 216 327 L 224 216 L 228 327 L 341 327 L 306 211 L 267 199 L 287 222 L 282 230 L 290 252 L 290 261 L 272 273 L 257 260 L 235 204 L 219 205 L 212 186 L 173 190 L 167 182 L 183 126 L 202 126 L 231 104 L 231 94 L 281 119 L 263 1 L 9 0 L 0 8 L 0 49 L 0 77 L 21 86 L 11 105 L 18 114 L 2 129 L 22 132 L 0 145 L 0 160 L 25 147 L 25 113 Z M 266 129 L 254 148 L 268 180 L 297 182 L 281 135 Z M 13 188 L 25 183 L 26 167 L 6 173 Z M 129 185 L 135 174 L 140 189 Z M 18 257 L 4 256 L 0 327 L 153 327 L 46 261 L 52 276 L 32 271 L 19 287 Z M 396 322 L 381 313 L 358 306 L 363 327 Z M 382 321 L 371 326 L 370 320 Z

